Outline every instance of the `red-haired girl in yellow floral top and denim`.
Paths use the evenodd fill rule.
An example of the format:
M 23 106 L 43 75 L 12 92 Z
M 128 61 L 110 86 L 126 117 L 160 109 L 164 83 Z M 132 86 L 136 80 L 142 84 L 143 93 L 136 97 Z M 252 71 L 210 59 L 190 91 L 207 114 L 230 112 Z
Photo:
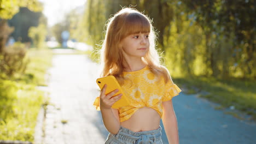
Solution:
M 155 34 L 147 16 L 123 8 L 107 24 L 102 46 L 101 76 L 113 75 L 129 105 L 112 109 L 122 94 L 118 89 L 105 95 L 107 85 L 95 100 L 109 131 L 105 143 L 162 143 L 160 120 L 169 143 L 179 143 L 172 97 L 181 92 L 168 70 L 160 65 Z

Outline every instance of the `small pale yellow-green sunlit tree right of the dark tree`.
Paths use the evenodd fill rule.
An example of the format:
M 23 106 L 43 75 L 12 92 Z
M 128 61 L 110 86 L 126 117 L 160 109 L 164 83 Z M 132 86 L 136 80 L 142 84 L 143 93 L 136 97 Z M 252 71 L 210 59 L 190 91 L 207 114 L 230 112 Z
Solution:
M 46 32 L 46 26 L 43 24 L 40 24 L 38 27 L 31 27 L 28 30 L 28 36 L 32 39 L 33 45 L 38 49 L 42 49 L 45 46 Z

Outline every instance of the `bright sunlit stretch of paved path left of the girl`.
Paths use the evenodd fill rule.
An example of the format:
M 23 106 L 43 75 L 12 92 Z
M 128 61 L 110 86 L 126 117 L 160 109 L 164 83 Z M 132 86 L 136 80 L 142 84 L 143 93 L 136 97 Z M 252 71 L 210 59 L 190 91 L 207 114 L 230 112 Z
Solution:
M 49 70 L 44 143 L 103 143 L 106 131 L 92 106 L 97 65 L 83 55 L 56 55 Z M 107 132 L 107 131 L 106 131 Z

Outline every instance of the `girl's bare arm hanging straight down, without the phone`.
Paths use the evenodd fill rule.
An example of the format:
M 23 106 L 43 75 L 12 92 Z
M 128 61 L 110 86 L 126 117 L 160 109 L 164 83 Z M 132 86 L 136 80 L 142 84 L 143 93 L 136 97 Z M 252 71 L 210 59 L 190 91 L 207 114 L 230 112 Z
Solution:
M 177 118 L 172 106 L 172 100 L 162 101 L 162 123 L 164 124 L 165 133 L 169 143 L 178 144 L 178 125 Z

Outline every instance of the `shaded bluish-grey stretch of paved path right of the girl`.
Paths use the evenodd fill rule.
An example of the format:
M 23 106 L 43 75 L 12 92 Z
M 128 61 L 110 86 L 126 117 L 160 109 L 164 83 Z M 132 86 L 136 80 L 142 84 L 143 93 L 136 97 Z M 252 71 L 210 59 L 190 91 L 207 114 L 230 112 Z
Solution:
M 196 95 L 173 98 L 180 143 L 256 143 L 256 125 L 241 121 Z

